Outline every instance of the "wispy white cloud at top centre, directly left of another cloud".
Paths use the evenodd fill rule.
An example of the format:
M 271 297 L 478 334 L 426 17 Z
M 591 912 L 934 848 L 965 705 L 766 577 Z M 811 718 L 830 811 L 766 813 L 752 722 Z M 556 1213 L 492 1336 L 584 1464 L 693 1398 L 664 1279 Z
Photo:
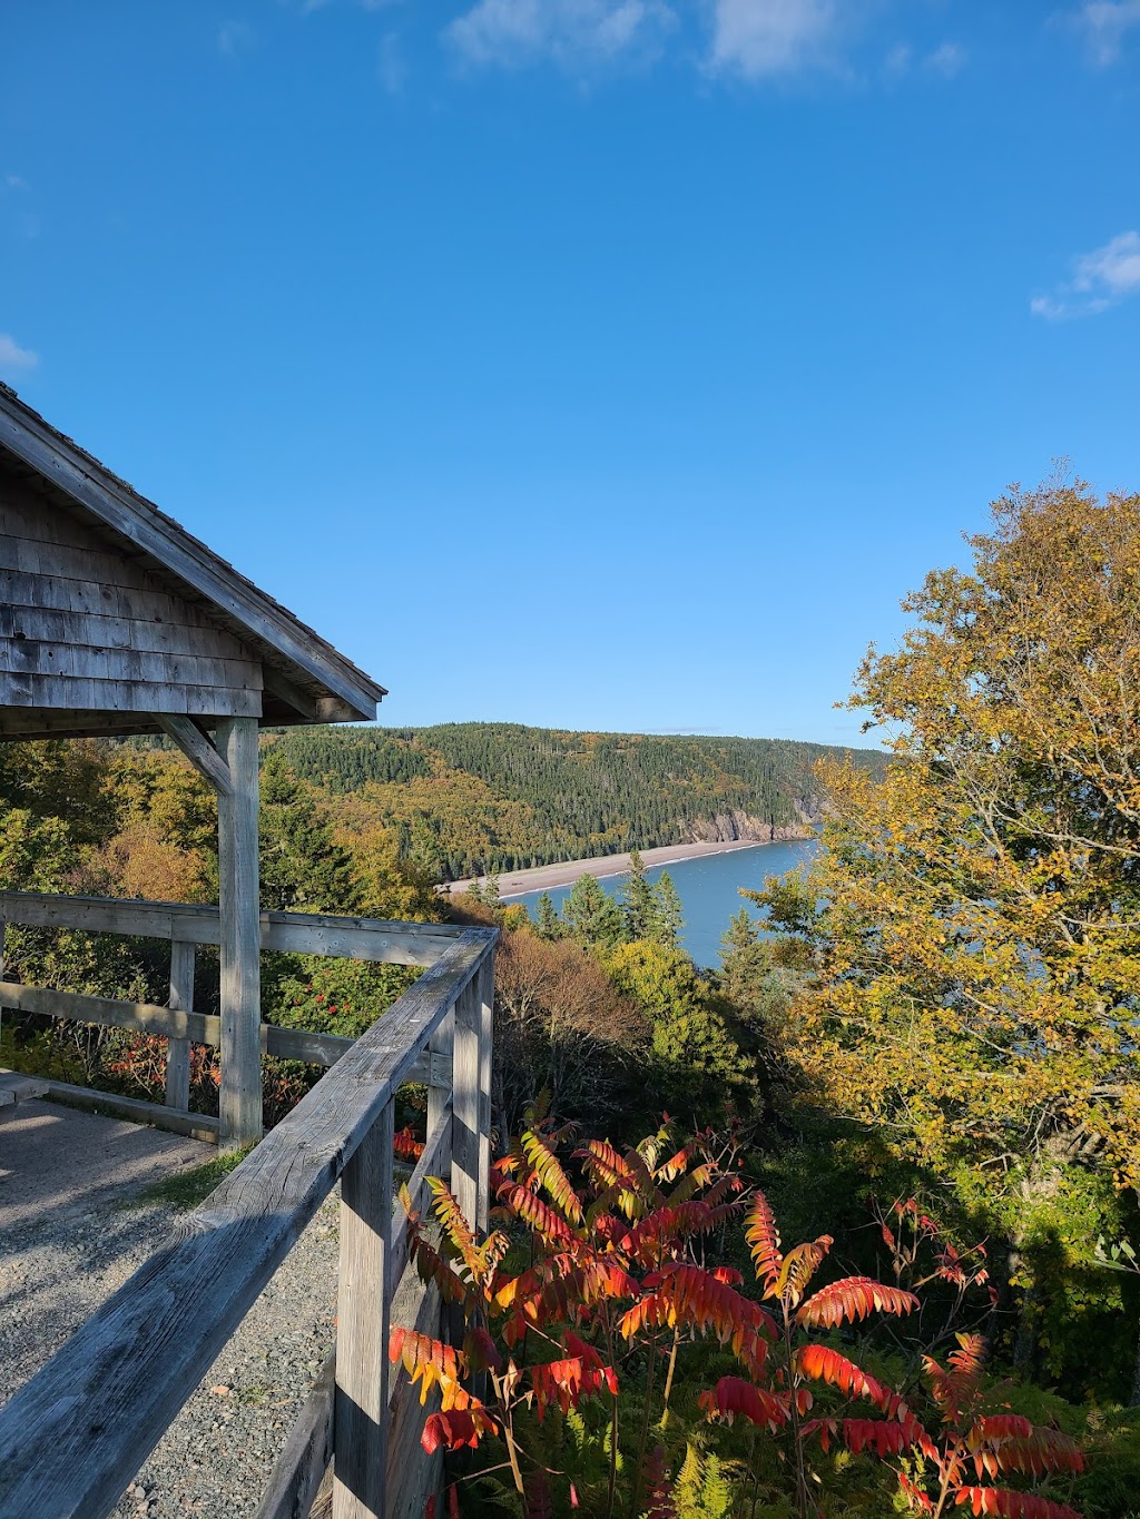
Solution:
M 479 67 L 581 68 L 652 56 L 675 23 L 664 0 L 479 0 L 444 35 Z

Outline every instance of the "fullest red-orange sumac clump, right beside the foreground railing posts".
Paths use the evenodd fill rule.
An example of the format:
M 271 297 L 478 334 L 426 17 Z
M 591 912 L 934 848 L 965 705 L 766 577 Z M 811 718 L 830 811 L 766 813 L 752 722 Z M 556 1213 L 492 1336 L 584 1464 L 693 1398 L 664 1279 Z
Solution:
M 763 1329 L 758 1305 L 704 1261 L 708 1241 L 740 1209 L 736 1148 L 711 1135 L 678 1148 L 667 1129 L 625 1153 L 591 1139 L 572 1156 L 575 1182 L 558 1157 L 568 1135 L 537 1126 L 499 1162 L 497 1227 L 483 1241 L 448 1188 L 430 1182 L 441 1241 L 433 1244 L 426 1221 L 409 1211 L 412 1256 L 421 1277 L 459 1309 L 465 1334 L 451 1346 L 395 1329 L 389 1353 L 420 1385 L 421 1402 L 438 1391 L 424 1449 L 474 1449 L 499 1438 L 527 1516 L 550 1511 L 552 1480 L 568 1481 L 527 1438 L 529 1416 L 541 1425 L 553 1408 L 568 1416 L 600 1401 L 608 1411 L 600 1492 L 579 1495 L 570 1483 L 570 1501 L 614 1514 L 625 1464 L 637 1516 L 658 1360 L 666 1408 L 681 1325 L 711 1328 L 742 1352 Z M 632 1350 L 648 1358 L 648 1387 L 623 1463 L 617 1363 Z

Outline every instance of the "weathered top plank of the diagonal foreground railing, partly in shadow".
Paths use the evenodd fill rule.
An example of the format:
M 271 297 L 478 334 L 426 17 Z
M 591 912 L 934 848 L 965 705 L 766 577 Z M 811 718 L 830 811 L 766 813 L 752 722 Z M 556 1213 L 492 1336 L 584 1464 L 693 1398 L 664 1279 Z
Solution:
M 0 1408 L 0 1519 L 114 1508 L 485 952 L 485 933 L 464 933 Z

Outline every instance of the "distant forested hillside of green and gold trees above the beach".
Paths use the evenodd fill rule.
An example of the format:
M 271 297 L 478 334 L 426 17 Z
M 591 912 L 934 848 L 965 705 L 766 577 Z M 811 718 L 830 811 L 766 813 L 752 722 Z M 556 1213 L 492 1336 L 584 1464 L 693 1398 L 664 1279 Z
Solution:
M 304 779 L 366 793 L 401 854 L 445 880 L 698 838 L 795 835 L 838 750 L 777 738 L 572 734 L 518 723 L 290 729 Z M 882 770 L 883 755 L 857 750 Z

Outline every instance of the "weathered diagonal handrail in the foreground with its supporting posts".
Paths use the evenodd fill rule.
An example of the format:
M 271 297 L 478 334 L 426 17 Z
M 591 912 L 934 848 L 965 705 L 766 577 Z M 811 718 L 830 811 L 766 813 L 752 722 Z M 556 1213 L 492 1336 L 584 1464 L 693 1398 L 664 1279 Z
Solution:
M 366 1417 L 357 1420 L 360 1429 L 351 1445 L 353 1431 L 342 1419 L 337 1443 L 342 1437 L 345 1443 L 336 1470 L 344 1478 L 366 1472 L 368 1481 L 362 1495 L 356 1478 L 351 1489 L 337 1480 L 334 1514 L 336 1519 L 383 1514 L 385 1499 L 383 1493 L 377 1496 L 375 1472 L 385 1470 L 388 1408 L 383 1405 L 383 1414 L 375 1416 L 375 1408 L 382 1407 L 375 1402 L 375 1388 L 385 1384 L 372 1341 L 388 1318 L 400 1218 L 375 1221 L 383 1188 L 377 1188 L 374 1179 L 385 1170 L 378 1141 L 391 1130 L 397 1088 L 415 1071 L 433 1036 L 450 1022 L 456 1004 L 461 1004 L 461 1016 L 456 1019 L 454 1109 L 467 1118 L 461 1124 L 445 1109 L 441 1113 L 436 1103 L 430 1153 L 442 1159 L 448 1147 L 439 1123 L 448 1138 L 454 1127 L 451 1185 L 456 1195 L 479 1197 L 486 1189 L 482 1133 L 465 1132 L 473 1120 L 480 1124 L 485 1098 L 467 1088 L 471 1080 L 479 1085 L 486 1069 L 480 1041 L 485 1024 L 489 1025 L 489 1009 L 483 1013 L 476 998 L 482 1004 L 486 996 L 497 933 L 467 928 L 448 939 L 436 963 L 353 1044 L 202 1208 L 188 1215 L 185 1226 L 0 1410 L 0 1519 L 26 1519 L 27 1514 L 103 1519 L 114 1508 L 345 1171 L 350 1176 L 342 1206 L 342 1267 L 345 1249 L 350 1256 L 356 1250 L 365 1255 L 353 1270 L 342 1270 L 337 1408 L 357 1407 L 363 1396 L 360 1388 L 371 1387 L 372 1413 L 363 1410 Z M 435 1068 L 432 1080 L 435 1091 L 439 1085 Z M 391 1148 L 388 1153 L 391 1156 Z M 429 1164 L 426 1159 L 413 1177 L 416 1189 Z M 375 1173 L 377 1165 L 380 1173 Z M 383 1206 L 391 1209 L 391 1191 Z M 374 1249 L 369 1240 L 377 1238 L 377 1229 Z M 369 1265 L 369 1252 L 378 1262 L 375 1268 Z M 357 1311 L 360 1282 L 372 1284 L 368 1291 L 375 1291 L 377 1299 L 363 1315 Z M 374 1381 L 377 1375 L 380 1384 Z

